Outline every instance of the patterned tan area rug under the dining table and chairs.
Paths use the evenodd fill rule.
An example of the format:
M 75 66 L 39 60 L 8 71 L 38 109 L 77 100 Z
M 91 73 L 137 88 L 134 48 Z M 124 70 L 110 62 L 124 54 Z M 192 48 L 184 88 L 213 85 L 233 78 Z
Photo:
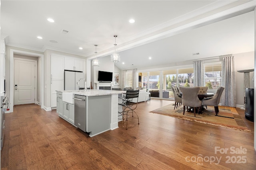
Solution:
M 207 106 L 207 109 L 204 109 L 202 114 L 196 114 L 196 117 L 194 117 L 194 113 L 188 111 L 185 111 L 185 114 L 183 115 L 183 106 L 174 109 L 174 104 L 169 104 L 150 112 L 241 131 L 251 131 L 246 127 L 244 121 L 234 107 L 219 106 L 218 116 L 215 116 L 216 114 L 213 106 Z

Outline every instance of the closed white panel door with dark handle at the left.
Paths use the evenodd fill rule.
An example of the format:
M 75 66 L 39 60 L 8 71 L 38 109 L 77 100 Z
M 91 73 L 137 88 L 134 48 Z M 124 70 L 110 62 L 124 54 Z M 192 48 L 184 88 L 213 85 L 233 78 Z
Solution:
M 35 103 L 35 61 L 14 59 L 14 105 Z

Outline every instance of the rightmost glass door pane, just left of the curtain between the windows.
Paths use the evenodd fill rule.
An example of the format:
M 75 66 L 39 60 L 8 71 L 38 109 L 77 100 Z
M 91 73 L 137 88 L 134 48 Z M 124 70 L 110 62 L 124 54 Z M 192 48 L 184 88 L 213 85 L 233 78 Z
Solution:
M 194 68 L 178 69 L 178 86 L 194 87 Z

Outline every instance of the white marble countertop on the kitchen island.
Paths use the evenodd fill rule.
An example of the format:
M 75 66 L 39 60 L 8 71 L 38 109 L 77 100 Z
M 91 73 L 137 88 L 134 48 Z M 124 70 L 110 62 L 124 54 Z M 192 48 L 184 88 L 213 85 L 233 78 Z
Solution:
M 97 90 L 97 89 L 87 89 L 87 90 L 56 90 L 56 92 L 69 92 L 72 94 L 77 94 L 81 96 L 104 96 L 104 95 L 112 95 L 112 94 L 123 94 L 126 91 L 120 90 Z

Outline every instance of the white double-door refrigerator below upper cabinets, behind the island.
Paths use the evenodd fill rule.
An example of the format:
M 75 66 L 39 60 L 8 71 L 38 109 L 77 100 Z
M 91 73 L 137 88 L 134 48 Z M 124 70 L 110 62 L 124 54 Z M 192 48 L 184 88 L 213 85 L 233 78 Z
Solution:
M 64 72 L 64 90 L 79 90 L 79 88 L 84 88 L 84 80 L 80 80 L 79 85 L 76 82 L 84 78 L 83 72 L 77 71 L 65 71 Z

